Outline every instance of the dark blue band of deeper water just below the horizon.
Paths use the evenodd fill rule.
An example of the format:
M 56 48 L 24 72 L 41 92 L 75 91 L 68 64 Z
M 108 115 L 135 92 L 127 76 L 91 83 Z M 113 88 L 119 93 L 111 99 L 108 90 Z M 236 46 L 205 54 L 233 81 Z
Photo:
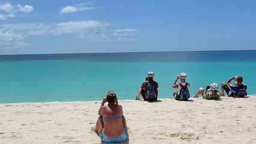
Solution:
M 222 61 L 227 53 L 239 61 L 251 61 L 256 50 L 205 50 L 205 51 L 172 51 L 172 52 L 113 52 L 113 53 L 50 53 L 26 55 L 0 55 L 4 61 L 41 61 L 41 60 L 79 60 L 115 61 L 115 62 L 174 62 L 174 61 Z M 219 59 L 215 56 L 218 55 Z M 243 59 L 240 55 L 243 55 Z M 233 61 L 230 59 L 230 61 Z

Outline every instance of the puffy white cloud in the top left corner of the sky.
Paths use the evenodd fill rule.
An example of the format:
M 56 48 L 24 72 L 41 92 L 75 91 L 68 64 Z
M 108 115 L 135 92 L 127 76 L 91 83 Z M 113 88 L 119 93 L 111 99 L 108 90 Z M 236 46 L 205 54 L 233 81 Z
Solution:
M 16 17 L 15 14 L 18 14 L 17 16 L 24 16 L 24 13 L 30 13 L 33 11 L 34 8 L 31 5 L 11 5 L 9 3 L 5 3 L 3 5 L 0 5 L 0 20 L 5 20 L 10 17 Z

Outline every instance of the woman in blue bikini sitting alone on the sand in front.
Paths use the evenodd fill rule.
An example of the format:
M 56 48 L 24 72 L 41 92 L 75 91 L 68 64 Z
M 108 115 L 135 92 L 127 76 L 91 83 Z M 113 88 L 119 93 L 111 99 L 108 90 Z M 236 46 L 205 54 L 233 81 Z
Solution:
M 108 102 L 107 105 L 104 105 Z M 123 115 L 123 107 L 118 104 L 114 91 L 108 91 L 103 98 L 98 114 L 100 115 L 96 126 L 91 128 L 103 142 L 117 143 L 129 140 L 126 119 Z

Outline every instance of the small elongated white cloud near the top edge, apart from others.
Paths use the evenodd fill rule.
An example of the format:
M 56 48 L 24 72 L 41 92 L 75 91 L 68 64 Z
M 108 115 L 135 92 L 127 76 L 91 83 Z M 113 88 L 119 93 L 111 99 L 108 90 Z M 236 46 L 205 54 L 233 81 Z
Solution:
M 77 11 L 85 11 L 85 10 L 93 10 L 94 7 L 87 7 L 87 5 L 84 4 L 76 4 L 75 6 L 67 6 L 63 7 L 59 13 L 61 14 L 68 14 L 68 13 L 76 13 Z

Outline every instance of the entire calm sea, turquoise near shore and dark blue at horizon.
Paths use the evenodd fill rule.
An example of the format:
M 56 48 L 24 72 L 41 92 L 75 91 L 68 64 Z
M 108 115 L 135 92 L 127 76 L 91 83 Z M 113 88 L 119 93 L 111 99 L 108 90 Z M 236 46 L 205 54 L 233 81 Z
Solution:
M 171 96 L 181 72 L 192 95 L 231 76 L 243 76 L 252 95 L 255 70 L 256 50 L 0 55 L 0 103 L 102 100 L 109 89 L 133 100 L 147 71 L 155 73 L 159 98 Z

